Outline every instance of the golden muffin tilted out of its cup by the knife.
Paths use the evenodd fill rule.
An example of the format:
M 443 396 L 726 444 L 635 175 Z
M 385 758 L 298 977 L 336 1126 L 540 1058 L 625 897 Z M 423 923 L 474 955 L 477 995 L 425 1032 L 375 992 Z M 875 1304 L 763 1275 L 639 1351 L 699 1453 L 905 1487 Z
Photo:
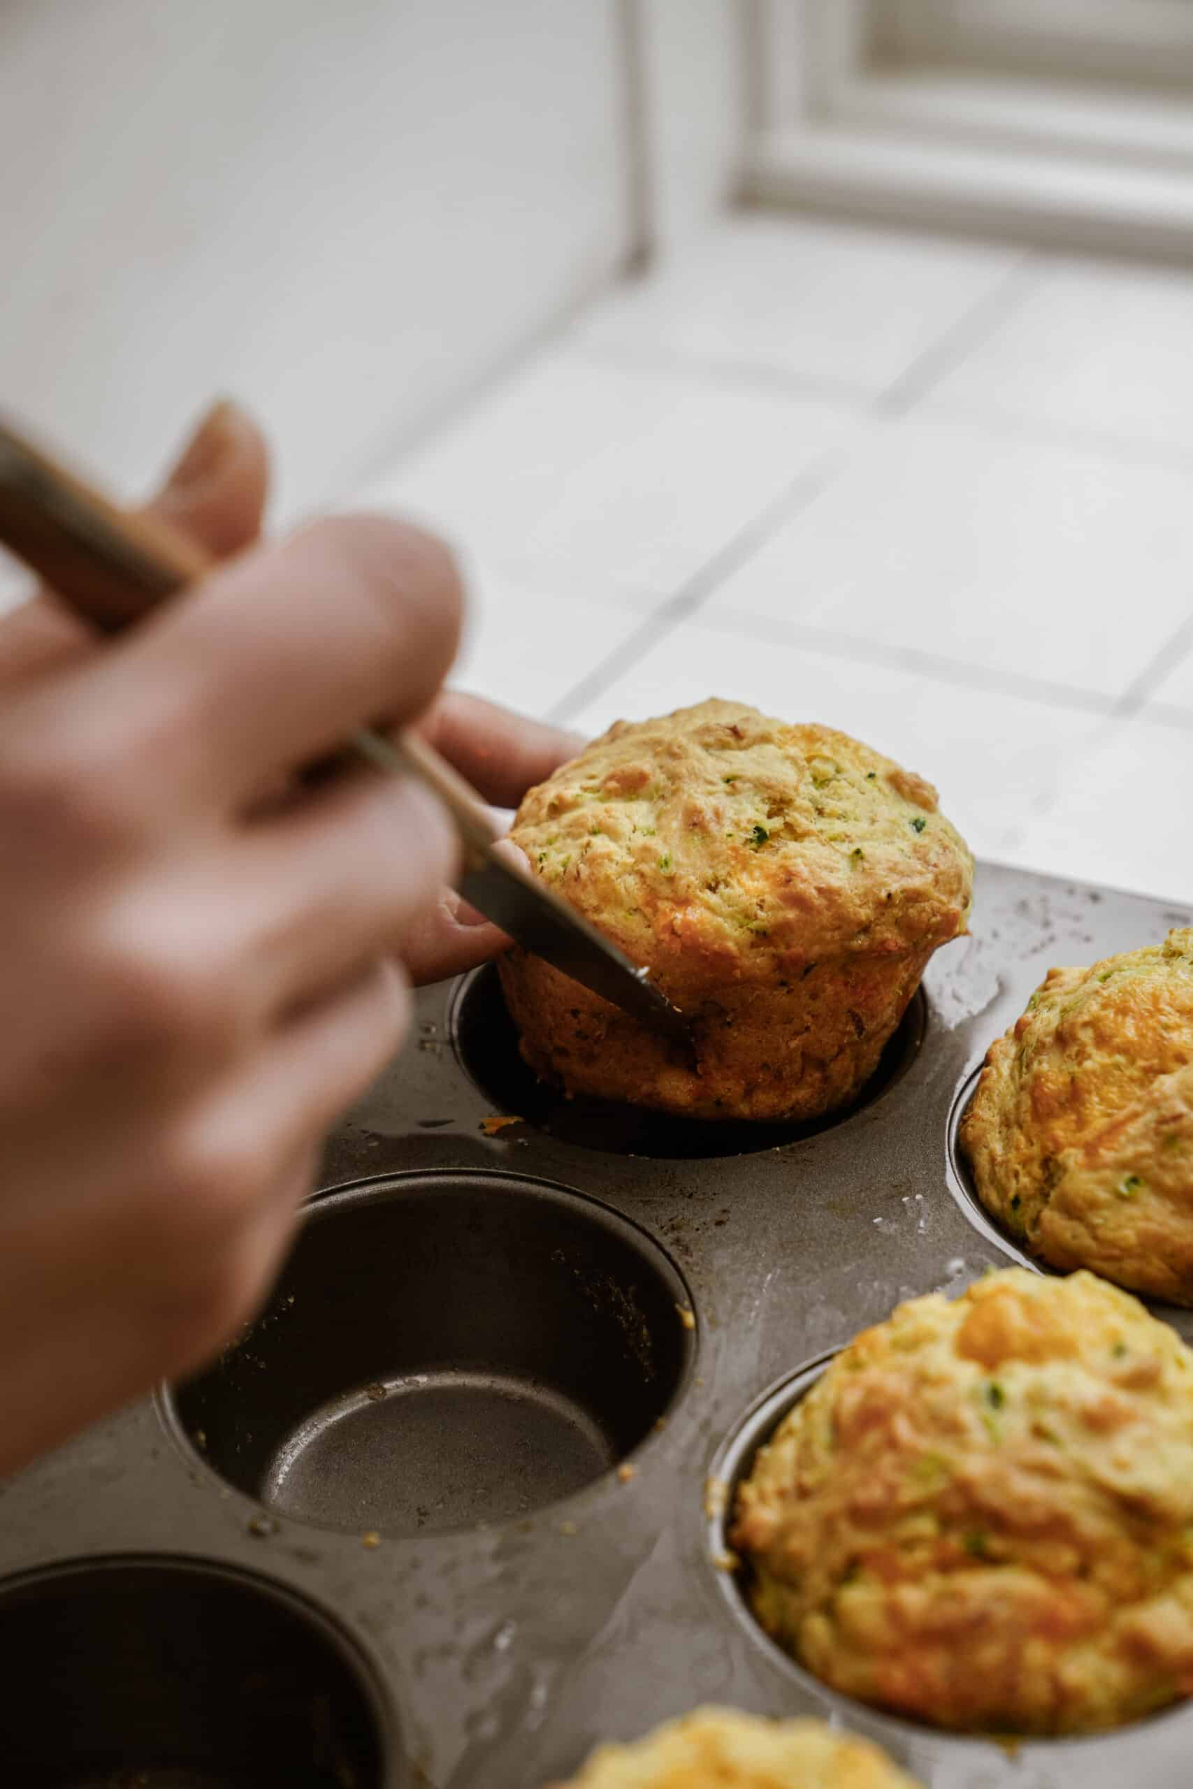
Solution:
M 698 1068 L 538 957 L 501 980 L 567 1093 L 699 1118 L 814 1118 L 873 1073 L 973 861 L 935 789 L 826 726 L 737 701 L 619 721 L 531 789 L 531 868 L 694 1018 Z

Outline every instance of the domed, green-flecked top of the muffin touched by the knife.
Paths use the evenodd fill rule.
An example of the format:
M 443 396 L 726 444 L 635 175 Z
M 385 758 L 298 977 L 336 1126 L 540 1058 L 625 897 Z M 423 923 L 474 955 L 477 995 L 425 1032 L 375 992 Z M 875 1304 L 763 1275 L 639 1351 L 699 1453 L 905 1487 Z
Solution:
M 674 991 L 932 948 L 969 912 L 973 861 L 930 784 L 737 701 L 619 721 L 529 791 L 513 839 Z

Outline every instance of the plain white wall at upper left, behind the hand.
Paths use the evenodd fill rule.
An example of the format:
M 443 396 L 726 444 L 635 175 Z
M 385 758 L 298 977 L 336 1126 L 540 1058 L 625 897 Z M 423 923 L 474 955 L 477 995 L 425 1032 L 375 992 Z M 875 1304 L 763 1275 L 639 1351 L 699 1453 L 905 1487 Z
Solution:
M 125 488 L 218 392 L 293 513 L 617 268 L 615 0 L 4 0 L 0 403 Z

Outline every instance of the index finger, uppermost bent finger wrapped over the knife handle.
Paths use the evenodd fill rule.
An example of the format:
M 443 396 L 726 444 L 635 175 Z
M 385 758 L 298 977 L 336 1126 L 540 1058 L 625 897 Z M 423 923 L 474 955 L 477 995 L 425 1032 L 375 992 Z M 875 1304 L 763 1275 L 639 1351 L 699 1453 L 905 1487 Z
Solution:
M 386 517 L 315 522 L 215 571 L 123 637 L 73 698 L 73 725 L 118 714 L 159 776 L 247 798 L 377 714 L 433 699 L 461 592 L 438 540 Z

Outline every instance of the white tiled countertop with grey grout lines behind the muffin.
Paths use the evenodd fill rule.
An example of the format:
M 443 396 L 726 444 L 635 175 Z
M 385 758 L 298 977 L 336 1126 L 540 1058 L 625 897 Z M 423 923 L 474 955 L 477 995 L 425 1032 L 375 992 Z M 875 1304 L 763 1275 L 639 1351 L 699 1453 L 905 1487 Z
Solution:
M 987 857 L 1193 898 L 1193 272 L 744 215 L 363 492 L 458 682 L 869 741 Z

